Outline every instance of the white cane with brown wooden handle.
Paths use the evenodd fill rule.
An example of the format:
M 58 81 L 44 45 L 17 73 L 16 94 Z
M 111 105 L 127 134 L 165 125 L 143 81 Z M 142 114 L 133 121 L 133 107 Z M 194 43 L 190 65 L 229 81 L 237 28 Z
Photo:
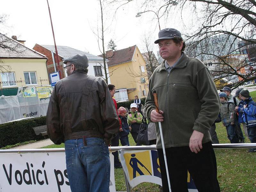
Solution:
M 157 95 L 156 95 L 156 90 L 153 90 L 153 96 L 154 96 L 154 101 L 156 105 L 156 112 L 159 112 L 159 106 L 158 106 L 158 101 L 157 101 Z M 168 165 L 167 165 L 167 159 L 166 159 L 166 153 L 165 153 L 165 148 L 164 148 L 164 137 L 163 137 L 163 131 L 162 131 L 162 125 L 161 122 L 158 122 L 159 125 L 159 130 L 160 130 L 160 136 L 161 136 L 161 141 L 162 141 L 162 148 L 163 148 L 163 153 L 164 153 L 164 164 L 166 168 L 166 175 L 167 175 L 167 180 L 168 180 L 168 186 L 169 186 L 169 191 L 171 192 L 171 183 L 170 183 L 170 177 L 169 177 L 169 170 L 168 170 Z

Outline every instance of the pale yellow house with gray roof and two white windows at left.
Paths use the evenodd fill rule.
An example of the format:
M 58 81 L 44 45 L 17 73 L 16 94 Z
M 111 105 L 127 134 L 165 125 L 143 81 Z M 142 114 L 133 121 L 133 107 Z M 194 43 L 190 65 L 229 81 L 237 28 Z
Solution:
M 29 49 L 17 39 L 0 34 L 0 88 L 1 94 L 18 87 L 49 85 L 46 68 L 47 57 Z M 10 92 L 10 91 L 9 91 Z M 4 94 L 8 96 L 9 93 Z M 13 94 L 9 94 L 13 95 Z

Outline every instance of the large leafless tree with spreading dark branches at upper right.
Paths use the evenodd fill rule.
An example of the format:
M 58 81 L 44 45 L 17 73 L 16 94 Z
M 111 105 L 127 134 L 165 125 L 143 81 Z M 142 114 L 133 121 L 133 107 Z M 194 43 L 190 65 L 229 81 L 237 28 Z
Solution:
M 118 0 L 113 0 L 118 1 Z M 121 4 L 133 0 L 121 1 Z M 239 79 L 236 87 L 256 79 L 256 2 L 254 0 L 163 0 L 165 18 L 170 5 L 180 5 L 184 39 L 189 56 L 198 57 L 211 65 L 215 79 Z M 155 0 L 142 1 L 143 9 L 155 8 Z M 192 17 L 184 17 L 184 12 Z M 189 20 L 189 22 L 188 22 Z M 188 24 L 189 23 L 189 24 Z M 221 42 L 216 42 L 221 39 Z M 246 50 L 248 52 L 244 52 Z M 250 51 L 249 51 L 250 50 Z M 243 73 L 241 73 L 243 71 Z

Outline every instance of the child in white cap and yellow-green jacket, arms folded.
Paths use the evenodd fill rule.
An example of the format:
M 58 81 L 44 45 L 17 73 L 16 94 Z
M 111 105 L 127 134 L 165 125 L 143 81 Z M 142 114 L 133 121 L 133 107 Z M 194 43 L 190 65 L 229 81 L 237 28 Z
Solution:
M 132 103 L 130 108 L 131 110 L 127 116 L 128 124 L 132 127 L 131 134 L 136 146 L 140 146 L 140 143 L 137 142 L 137 136 L 142 122 L 142 115 L 138 112 L 136 103 Z

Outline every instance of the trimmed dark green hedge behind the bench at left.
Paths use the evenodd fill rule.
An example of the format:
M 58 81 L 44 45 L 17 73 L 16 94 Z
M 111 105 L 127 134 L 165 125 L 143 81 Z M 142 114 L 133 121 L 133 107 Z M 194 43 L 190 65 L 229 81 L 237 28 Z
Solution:
M 0 148 L 30 140 L 40 140 L 33 127 L 46 124 L 46 116 L 0 124 Z

